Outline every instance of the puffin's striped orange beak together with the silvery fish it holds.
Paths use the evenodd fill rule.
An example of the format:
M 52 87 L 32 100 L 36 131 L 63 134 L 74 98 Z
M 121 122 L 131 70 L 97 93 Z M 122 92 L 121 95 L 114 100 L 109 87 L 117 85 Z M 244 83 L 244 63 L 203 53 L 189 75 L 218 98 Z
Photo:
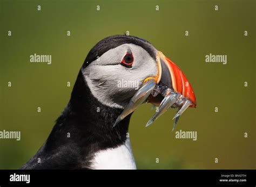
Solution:
M 147 77 L 144 80 L 143 86 L 131 98 L 129 104 L 125 107 L 113 126 L 116 126 L 119 121 L 136 110 L 145 101 L 153 105 L 159 105 L 156 113 L 154 113 L 146 126 L 151 125 L 154 120 L 165 113 L 170 107 L 178 107 L 179 110 L 173 118 L 175 119 L 173 124 L 174 129 L 180 115 L 188 107 L 196 107 L 196 96 L 179 67 L 161 52 L 158 52 L 156 60 L 158 65 L 157 76 Z

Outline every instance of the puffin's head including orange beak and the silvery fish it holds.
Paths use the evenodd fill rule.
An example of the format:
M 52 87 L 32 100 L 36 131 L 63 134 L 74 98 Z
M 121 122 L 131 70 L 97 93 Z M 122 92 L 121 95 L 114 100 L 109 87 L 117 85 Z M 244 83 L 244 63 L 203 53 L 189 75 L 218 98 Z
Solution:
M 183 72 L 150 42 L 138 37 L 113 35 L 99 41 L 81 71 L 100 103 L 122 109 L 113 126 L 145 102 L 159 105 L 146 126 L 170 107 L 178 107 L 174 128 L 187 107 L 196 107 L 196 97 Z

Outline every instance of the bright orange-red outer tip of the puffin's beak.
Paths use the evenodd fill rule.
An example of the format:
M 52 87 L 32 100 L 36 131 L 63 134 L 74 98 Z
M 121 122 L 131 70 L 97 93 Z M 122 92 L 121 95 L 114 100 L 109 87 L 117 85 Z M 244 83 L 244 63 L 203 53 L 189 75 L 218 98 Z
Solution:
M 165 56 L 165 60 L 168 63 L 167 65 L 169 66 L 169 69 L 170 69 L 171 78 L 172 78 L 172 87 L 174 91 L 179 92 L 184 97 L 190 99 L 190 101 L 192 102 L 190 107 L 196 107 L 197 106 L 196 96 L 194 95 L 194 91 L 191 87 L 190 82 L 188 82 L 184 73 L 179 69 L 179 67 L 175 63 L 173 63 L 166 56 Z

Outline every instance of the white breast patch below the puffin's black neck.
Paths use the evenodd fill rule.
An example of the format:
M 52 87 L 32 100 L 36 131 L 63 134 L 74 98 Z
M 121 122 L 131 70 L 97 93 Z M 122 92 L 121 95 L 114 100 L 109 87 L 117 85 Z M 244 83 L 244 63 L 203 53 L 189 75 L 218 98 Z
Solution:
M 129 138 L 116 148 L 100 150 L 91 162 L 92 169 L 136 169 Z

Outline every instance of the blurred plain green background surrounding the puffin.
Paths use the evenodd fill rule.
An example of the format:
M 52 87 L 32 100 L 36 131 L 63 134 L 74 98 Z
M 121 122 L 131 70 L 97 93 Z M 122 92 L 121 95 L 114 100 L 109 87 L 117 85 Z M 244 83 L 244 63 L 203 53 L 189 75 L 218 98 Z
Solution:
M 87 53 L 99 40 L 126 31 L 176 63 L 197 97 L 197 109 L 188 109 L 173 132 L 176 110 L 147 128 L 151 105 L 134 112 L 130 139 L 138 169 L 256 168 L 255 1 L 1 0 L 0 5 L 0 131 L 21 131 L 21 141 L 0 139 L 0 169 L 19 168 L 36 153 L 68 103 Z M 30 63 L 34 53 L 52 55 L 52 64 Z M 227 55 L 227 64 L 206 63 L 210 53 Z M 176 139 L 179 130 L 197 131 L 198 140 Z

